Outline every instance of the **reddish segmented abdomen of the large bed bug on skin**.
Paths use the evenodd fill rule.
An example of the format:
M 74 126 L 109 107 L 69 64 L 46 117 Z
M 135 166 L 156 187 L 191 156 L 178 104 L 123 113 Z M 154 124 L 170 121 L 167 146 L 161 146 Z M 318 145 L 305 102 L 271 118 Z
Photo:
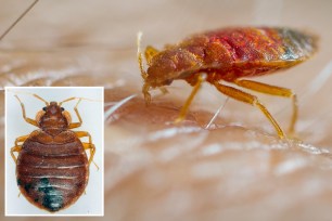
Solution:
M 317 50 L 317 37 L 291 28 L 231 27 L 192 36 L 179 46 L 202 58 L 196 72 L 212 69 L 232 80 L 306 61 Z

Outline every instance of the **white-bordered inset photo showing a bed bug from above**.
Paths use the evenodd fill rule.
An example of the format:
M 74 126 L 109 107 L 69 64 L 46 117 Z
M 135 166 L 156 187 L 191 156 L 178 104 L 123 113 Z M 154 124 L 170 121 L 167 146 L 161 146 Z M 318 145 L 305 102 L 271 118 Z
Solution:
M 5 88 L 5 216 L 104 214 L 103 91 Z

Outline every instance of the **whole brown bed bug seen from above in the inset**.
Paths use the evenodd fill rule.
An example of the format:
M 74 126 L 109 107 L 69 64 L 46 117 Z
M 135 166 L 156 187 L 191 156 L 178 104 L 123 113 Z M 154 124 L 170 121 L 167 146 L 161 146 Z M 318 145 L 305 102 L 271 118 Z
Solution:
M 37 94 L 34 96 L 46 106 L 31 119 L 26 117 L 25 106 L 15 95 L 24 120 L 39 129 L 17 138 L 15 146 L 11 148 L 11 156 L 16 164 L 21 193 L 33 205 L 56 212 L 74 204 L 85 192 L 95 147 L 89 132 L 71 130 L 82 123 L 77 109 L 81 98 L 69 98 L 56 103 L 47 102 Z M 69 112 L 62 107 L 63 103 L 73 100 L 78 100 L 74 107 L 78 122 L 72 122 Z M 80 138 L 88 138 L 88 142 L 81 142 Z M 90 151 L 89 158 L 86 151 Z M 15 152 L 18 153 L 17 158 Z

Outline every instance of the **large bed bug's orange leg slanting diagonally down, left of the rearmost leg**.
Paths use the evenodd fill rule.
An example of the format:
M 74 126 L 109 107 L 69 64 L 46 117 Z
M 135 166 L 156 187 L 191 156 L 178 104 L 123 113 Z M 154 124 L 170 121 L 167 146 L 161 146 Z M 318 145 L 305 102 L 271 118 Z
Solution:
M 283 132 L 283 130 L 280 128 L 279 123 L 277 122 L 277 120 L 272 117 L 272 115 L 268 112 L 268 109 L 258 101 L 258 99 L 250 93 L 240 91 L 235 88 L 229 87 L 229 86 L 225 86 L 221 84 L 219 82 L 215 82 L 214 83 L 215 87 L 218 89 L 218 91 L 220 91 L 221 93 L 235 99 L 238 101 L 242 101 L 244 103 L 248 103 L 252 104 L 256 107 L 258 107 L 263 114 L 268 118 L 268 120 L 272 123 L 272 126 L 274 127 L 280 139 L 284 139 L 285 134 Z

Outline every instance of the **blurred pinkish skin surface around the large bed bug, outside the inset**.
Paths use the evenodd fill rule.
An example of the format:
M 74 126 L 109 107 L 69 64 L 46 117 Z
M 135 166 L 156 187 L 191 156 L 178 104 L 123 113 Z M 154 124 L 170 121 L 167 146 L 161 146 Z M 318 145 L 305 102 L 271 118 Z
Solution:
M 29 2 L 0 0 L 0 34 Z M 0 42 L 0 87 L 105 87 L 105 220 L 330 220 L 331 9 L 330 0 L 41 0 Z M 257 79 L 298 94 L 298 140 L 280 141 L 257 109 L 208 84 L 180 126 L 173 120 L 191 91 L 184 82 L 163 96 L 155 91 L 145 106 L 139 30 L 143 47 L 162 49 L 191 34 L 244 25 L 320 37 L 311 60 Z M 290 101 L 257 95 L 286 128 Z M 2 143 L 3 127 L 2 117 Z

